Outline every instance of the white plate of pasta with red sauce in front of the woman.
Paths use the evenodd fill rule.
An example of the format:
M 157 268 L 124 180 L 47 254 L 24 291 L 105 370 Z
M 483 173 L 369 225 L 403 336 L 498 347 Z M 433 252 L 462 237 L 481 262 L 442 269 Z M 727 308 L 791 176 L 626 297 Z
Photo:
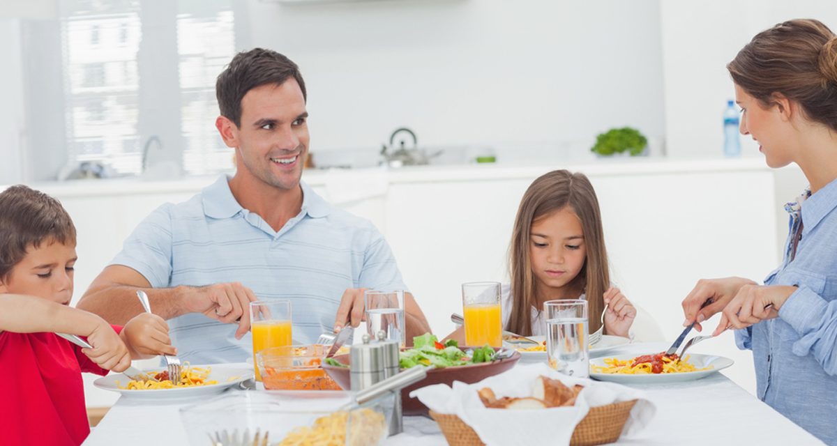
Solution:
M 682 382 L 708 377 L 732 363 L 723 356 L 689 354 L 680 359 L 665 352 L 598 357 L 590 360 L 590 377 L 622 383 Z

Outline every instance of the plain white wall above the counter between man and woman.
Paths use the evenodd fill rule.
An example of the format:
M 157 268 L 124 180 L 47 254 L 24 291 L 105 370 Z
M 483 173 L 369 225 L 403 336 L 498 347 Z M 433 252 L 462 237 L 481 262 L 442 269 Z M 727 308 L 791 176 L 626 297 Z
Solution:
M 300 65 L 312 151 L 554 145 L 614 126 L 661 136 L 657 0 L 249 0 L 247 42 Z

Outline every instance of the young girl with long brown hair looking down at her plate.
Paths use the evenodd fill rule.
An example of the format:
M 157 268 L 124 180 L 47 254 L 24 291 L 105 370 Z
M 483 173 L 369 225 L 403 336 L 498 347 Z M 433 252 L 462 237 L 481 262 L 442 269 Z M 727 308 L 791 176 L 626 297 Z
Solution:
M 553 171 L 531 183 L 517 210 L 509 251 L 511 284 L 503 286 L 501 298 L 504 330 L 545 335 L 544 302 L 587 299 L 590 333 L 598 330 L 604 311 L 604 333 L 628 337 L 636 309 L 610 285 L 598 199 L 583 174 Z M 460 342 L 464 337 L 463 327 L 448 336 Z

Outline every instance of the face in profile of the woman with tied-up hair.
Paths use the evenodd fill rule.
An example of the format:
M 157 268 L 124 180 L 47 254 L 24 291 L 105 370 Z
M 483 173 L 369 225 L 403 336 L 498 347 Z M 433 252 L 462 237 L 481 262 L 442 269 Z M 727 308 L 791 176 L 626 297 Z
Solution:
M 757 141 L 758 151 L 764 154 L 769 167 L 784 167 L 793 162 L 793 126 L 783 120 L 778 105 L 764 109 L 759 101 L 744 89 L 735 86 L 735 98 L 742 108 L 741 134 Z

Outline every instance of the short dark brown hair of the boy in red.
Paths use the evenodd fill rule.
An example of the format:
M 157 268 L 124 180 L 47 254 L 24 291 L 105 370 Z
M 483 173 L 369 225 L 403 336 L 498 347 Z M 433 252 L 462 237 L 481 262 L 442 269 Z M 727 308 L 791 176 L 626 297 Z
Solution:
M 26 186 L 0 192 L 0 279 L 18 264 L 30 247 L 44 242 L 75 244 L 75 226 L 53 197 Z

